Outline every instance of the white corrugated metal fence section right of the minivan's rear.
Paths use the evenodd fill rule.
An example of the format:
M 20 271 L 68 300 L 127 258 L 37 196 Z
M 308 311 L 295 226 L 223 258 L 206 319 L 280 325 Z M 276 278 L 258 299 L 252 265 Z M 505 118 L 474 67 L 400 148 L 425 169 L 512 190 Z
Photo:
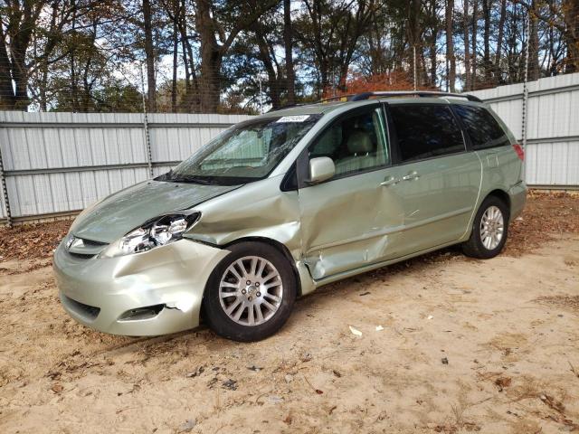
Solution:
M 522 138 L 522 84 L 469 93 Z M 527 184 L 579 186 L 579 73 L 529 82 L 528 95 Z

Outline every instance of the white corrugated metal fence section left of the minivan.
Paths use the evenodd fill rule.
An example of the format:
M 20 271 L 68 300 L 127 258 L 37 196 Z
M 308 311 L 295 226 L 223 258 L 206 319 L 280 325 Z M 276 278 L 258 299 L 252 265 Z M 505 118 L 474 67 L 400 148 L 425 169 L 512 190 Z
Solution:
M 247 118 L 149 115 L 155 175 Z M 141 114 L 0 112 L 0 146 L 12 215 L 81 210 L 146 180 L 145 140 Z M 0 217 L 5 217 L 4 203 Z

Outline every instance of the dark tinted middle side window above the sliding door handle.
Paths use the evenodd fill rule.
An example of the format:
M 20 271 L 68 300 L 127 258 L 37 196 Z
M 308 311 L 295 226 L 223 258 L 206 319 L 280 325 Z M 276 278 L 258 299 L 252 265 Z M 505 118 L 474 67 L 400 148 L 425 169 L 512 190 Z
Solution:
M 442 105 L 392 105 L 390 113 L 403 162 L 465 150 L 451 109 Z

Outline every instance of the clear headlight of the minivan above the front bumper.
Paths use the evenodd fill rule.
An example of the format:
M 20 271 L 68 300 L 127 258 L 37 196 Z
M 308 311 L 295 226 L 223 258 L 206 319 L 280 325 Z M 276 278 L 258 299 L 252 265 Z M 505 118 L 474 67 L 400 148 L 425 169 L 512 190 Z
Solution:
M 181 240 L 187 229 L 199 219 L 199 213 L 167 214 L 153 219 L 140 228 L 128 232 L 100 253 L 100 258 L 114 258 L 165 246 Z

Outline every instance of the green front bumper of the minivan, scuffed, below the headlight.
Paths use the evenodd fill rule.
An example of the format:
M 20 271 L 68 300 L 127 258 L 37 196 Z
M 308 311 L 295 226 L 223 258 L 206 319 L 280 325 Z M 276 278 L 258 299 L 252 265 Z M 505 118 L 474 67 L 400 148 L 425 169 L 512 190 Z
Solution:
M 62 307 L 81 324 L 113 335 L 166 335 L 199 325 L 207 279 L 228 253 L 184 239 L 144 253 L 87 259 L 61 243 L 53 269 Z M 143 311 L 148 315 L 134 315 Z

